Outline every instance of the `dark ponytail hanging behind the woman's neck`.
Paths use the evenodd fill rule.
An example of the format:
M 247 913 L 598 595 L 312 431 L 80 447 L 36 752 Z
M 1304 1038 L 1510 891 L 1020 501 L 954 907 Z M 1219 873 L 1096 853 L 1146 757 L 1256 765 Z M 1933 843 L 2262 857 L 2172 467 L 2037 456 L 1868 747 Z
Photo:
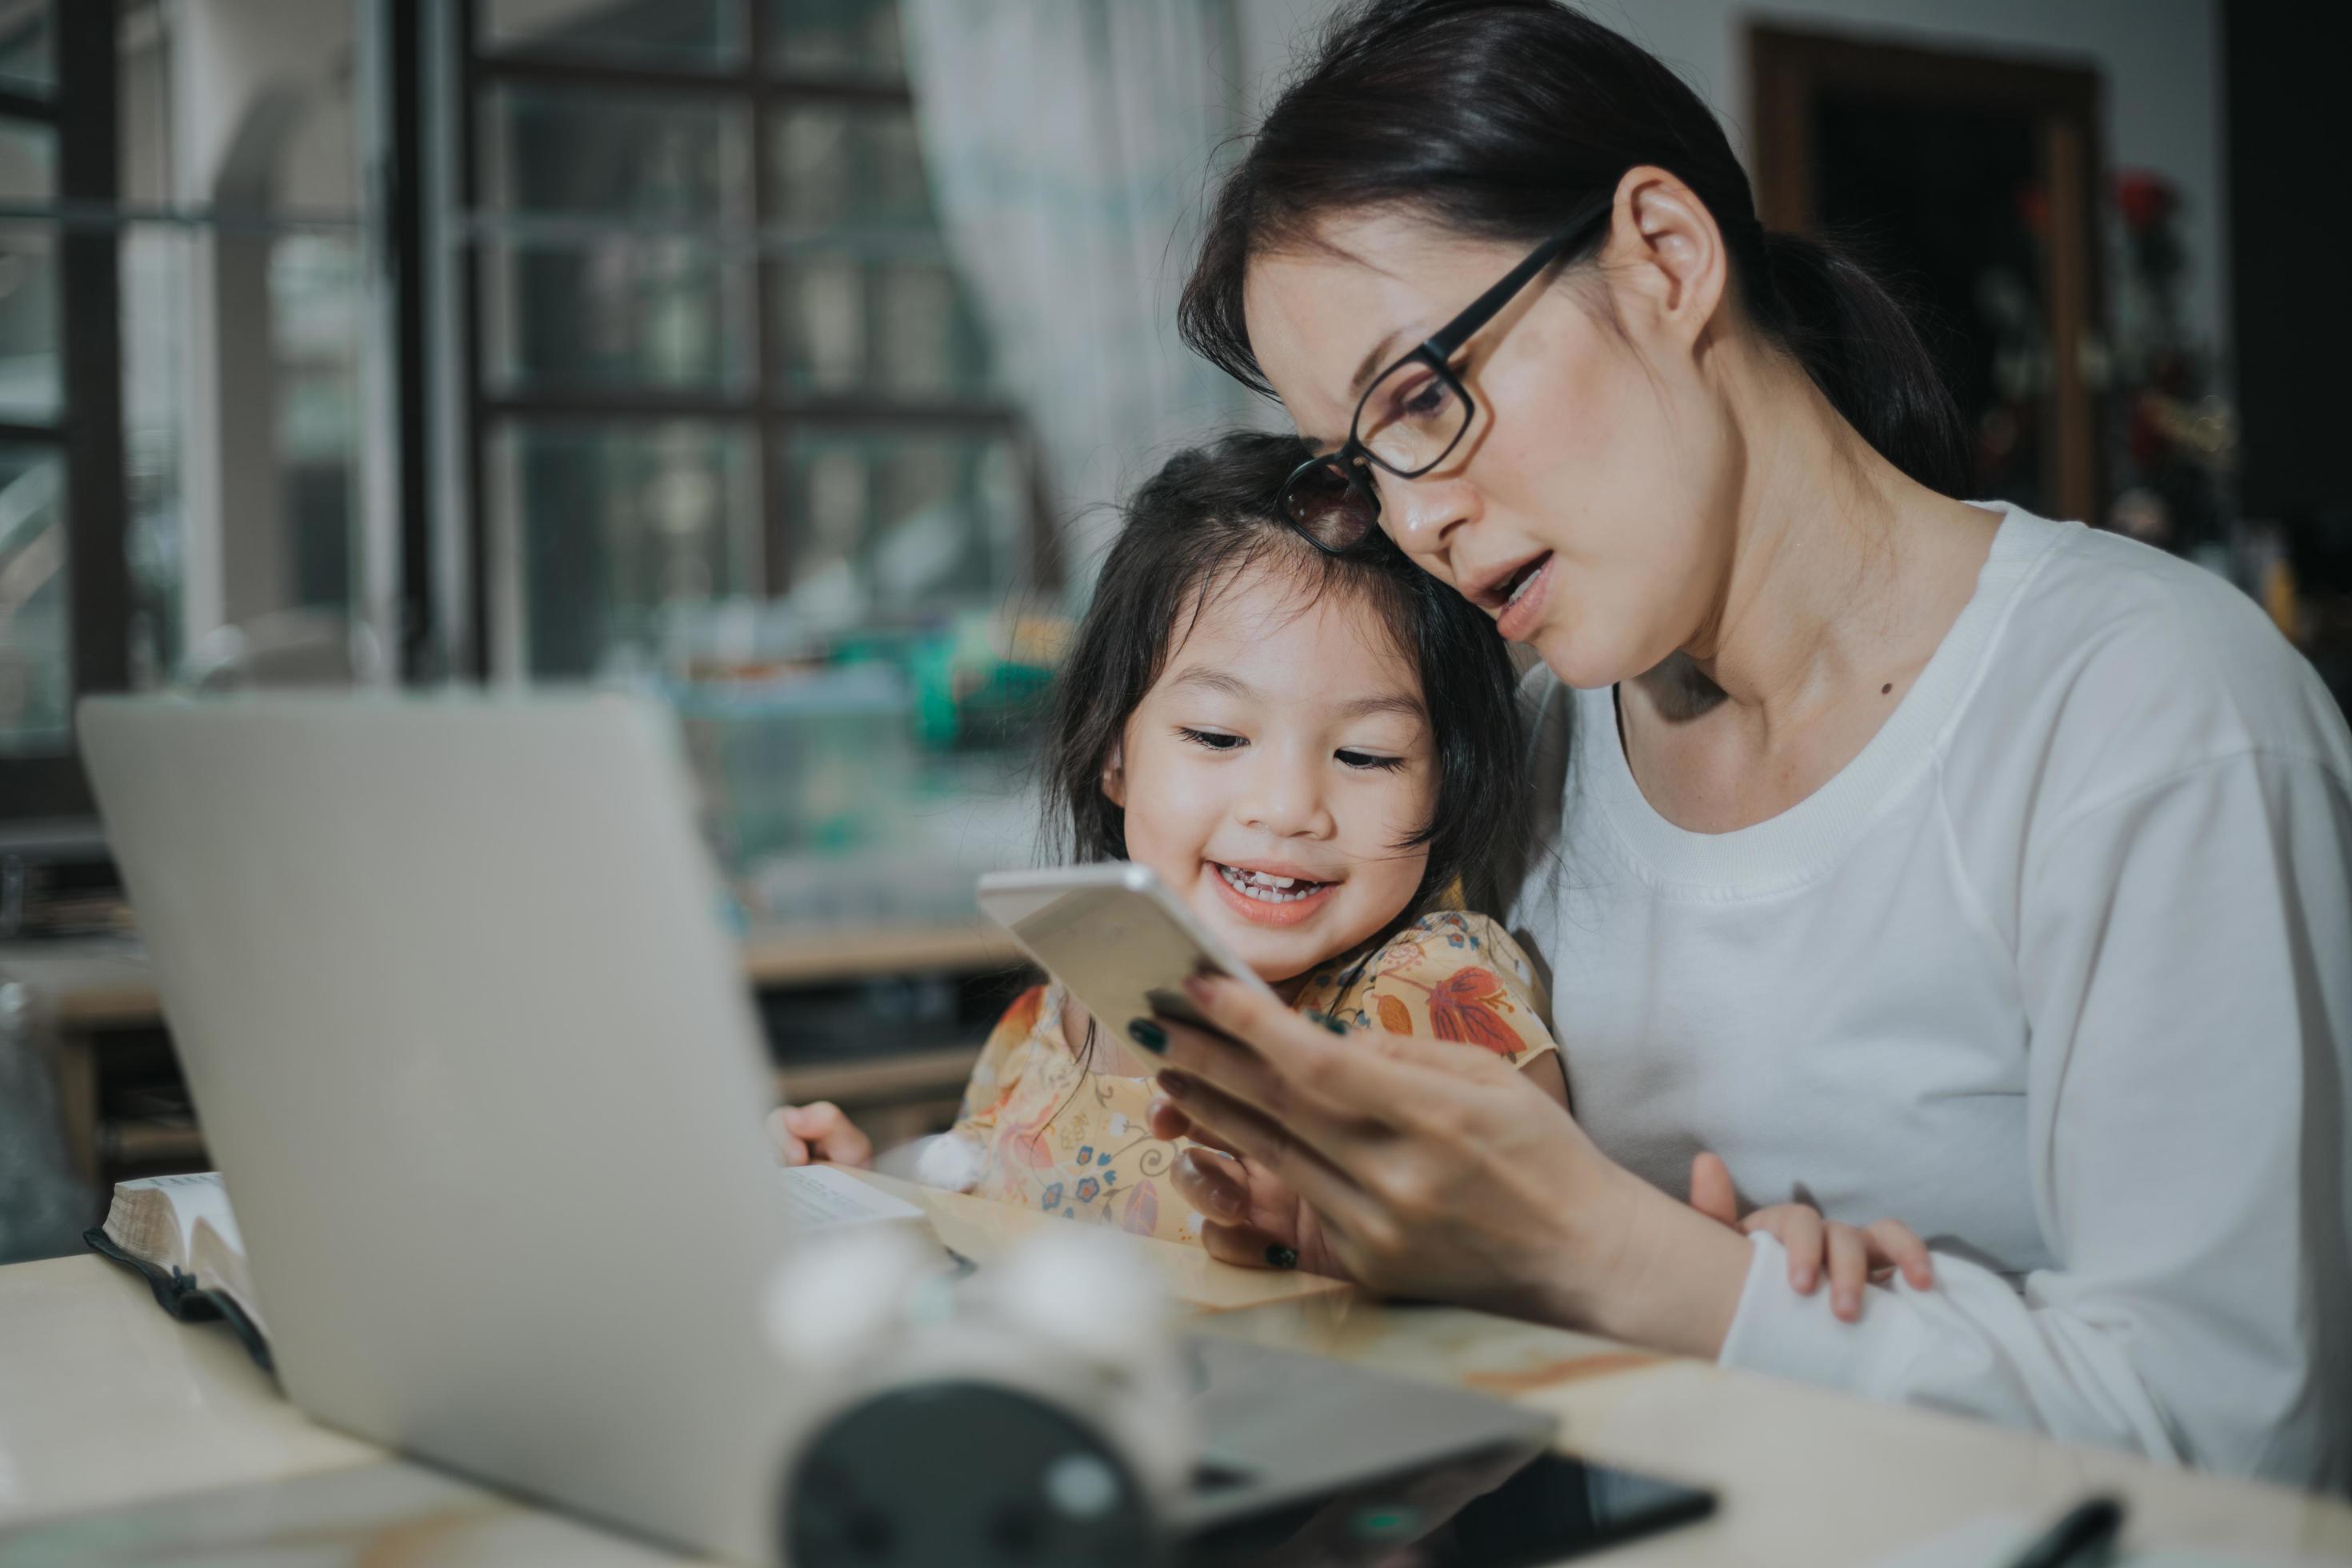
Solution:
M 1860 261 L 1828 240 L 1766 230 L 1764 280 L 1745 303 L 1882 458 L 1945 496 L 1971 489 L 1959 404 L 1910 315 Z

